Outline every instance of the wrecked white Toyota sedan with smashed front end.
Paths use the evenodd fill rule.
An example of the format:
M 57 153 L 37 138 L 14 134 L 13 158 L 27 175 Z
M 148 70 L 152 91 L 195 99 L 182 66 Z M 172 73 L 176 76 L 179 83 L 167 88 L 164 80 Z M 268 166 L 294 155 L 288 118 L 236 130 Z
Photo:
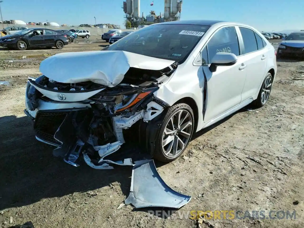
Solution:
M 251 26 L 157 23 L 102 51 L 43 60 L 43 75 L 28 80 L 25 113 L 36 139 L 56 146 L 54 153 L 74 166 L 79 155 L 96 169 L 132 164 L 109 158 L 130 137 L 168 162 L 184 152 L 193 132 L 250 103 L 265 105 L 276 71 L 274 47 Z

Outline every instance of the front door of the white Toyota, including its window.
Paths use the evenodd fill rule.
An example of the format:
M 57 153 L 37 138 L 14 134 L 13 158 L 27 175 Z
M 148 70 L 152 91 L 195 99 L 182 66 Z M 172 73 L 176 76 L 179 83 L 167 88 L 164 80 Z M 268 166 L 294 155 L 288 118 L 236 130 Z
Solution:
M 215 72 L 209 70 L 212 58 L 217 52 L 233 53 L 238 57 L 232 66 L 218 66 Z M 240 56 L 241 49 L 234 26 L 216 31 L 201 52 L 203 73 L 206 78 L 206 102 L 204 122 L 221 116 L 241 102 L 246 79 L 246 66 Z

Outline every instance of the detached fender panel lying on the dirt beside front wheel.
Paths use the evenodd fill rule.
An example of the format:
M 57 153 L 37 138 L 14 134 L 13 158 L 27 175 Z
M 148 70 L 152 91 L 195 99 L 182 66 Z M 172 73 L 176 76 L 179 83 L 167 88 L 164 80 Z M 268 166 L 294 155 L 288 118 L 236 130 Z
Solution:
M 138 161 L 132 170 L 130 195 L 126 204 L 135 208 L 168 207 L 181 208 L 190 202 L 191 196 L 183 195 L 171 189 L 161 179 L 154 161 Z

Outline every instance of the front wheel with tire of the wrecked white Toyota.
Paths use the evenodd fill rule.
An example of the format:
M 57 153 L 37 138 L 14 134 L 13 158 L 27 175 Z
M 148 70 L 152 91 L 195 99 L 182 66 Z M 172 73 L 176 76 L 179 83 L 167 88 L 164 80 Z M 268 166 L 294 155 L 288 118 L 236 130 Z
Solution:
M 154 158 L 170 162 L 180 157 L 188 146 L 194 130 L 194 114 L 185 103 L 173 105 L 167 111 L 157 133 Z

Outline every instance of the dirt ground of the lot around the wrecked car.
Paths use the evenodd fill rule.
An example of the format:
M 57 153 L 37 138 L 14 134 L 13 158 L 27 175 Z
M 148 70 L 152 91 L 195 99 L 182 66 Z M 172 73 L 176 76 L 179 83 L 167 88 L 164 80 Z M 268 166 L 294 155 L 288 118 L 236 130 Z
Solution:
M 108 43 L 98 38 L 78 39 L 62 50 L 0 49 L 0 81 L 9 81 L 0 85 L 0 226 L 32 221 L 37 228 L 197 227 L 189 214 L 182 215 L 264 210 L 268 218 L 270 210 L 296 210 L 296 219 L 207 220 L 218 228 L 304 227 L 304 62 L 278 60 L 263 108 L 240 110 L 196 133 L 184 156 L 156 163 L 171 188 L 192 196 L 162 218 L 150 216 L 151 209 L 117 209 L 129 195 L 131 167 L 94 170 L 66 164 L 52 156 L 53 147 L 35 139 L 23 113 L 27 78 L 40 74 L 41 60 L 60 52 L 101 50 Z

